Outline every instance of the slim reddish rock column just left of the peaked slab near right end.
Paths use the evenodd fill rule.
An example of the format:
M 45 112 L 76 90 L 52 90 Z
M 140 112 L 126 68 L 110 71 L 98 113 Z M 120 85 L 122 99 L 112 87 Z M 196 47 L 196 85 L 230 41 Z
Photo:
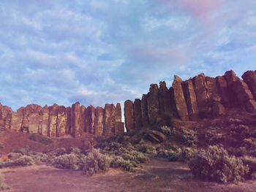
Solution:
M 220 102 L 225 106 L 228 107 L 228 91 L 227 91 L 227 81 L 225 80 L 225 77 L 218 76 L 216 77 L 217 87 L 219 89 L 219 96 L 220 96 Z

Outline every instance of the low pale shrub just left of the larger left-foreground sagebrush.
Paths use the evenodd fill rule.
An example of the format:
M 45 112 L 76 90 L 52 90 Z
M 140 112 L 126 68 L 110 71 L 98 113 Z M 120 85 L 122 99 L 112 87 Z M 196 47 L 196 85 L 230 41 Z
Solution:
M 78 157 L 75 154 L 64 154 L 54 158 L 53 165 L 59 169 L 75 169 Z

